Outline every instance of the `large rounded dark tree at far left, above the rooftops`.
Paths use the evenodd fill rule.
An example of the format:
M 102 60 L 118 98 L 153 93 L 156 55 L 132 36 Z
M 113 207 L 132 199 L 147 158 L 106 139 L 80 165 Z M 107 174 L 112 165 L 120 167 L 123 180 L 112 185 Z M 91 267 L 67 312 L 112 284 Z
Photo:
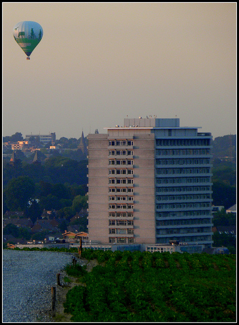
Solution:
M 13 178 L 5 189 L 8 209 L 24 211 L 28 201 L 34 198 L 35 190 L 35 183 L 28 176 Z

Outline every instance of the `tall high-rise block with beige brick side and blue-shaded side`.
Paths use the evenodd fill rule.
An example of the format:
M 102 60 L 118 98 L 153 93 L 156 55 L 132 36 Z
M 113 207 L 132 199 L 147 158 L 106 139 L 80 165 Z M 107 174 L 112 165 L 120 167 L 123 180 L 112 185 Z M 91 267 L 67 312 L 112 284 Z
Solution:
M 211 247 L 211 133 L 155 117 L 106 129 L 88 136 L 89 239 Z

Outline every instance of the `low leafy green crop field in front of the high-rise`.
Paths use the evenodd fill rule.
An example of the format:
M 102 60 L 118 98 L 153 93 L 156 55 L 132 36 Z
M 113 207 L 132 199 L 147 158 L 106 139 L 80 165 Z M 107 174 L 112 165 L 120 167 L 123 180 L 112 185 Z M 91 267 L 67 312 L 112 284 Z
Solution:
M 68 291 L 72 321 L 235 321 L 235 255 L 86 250 L 83 257 L 104 267 Z

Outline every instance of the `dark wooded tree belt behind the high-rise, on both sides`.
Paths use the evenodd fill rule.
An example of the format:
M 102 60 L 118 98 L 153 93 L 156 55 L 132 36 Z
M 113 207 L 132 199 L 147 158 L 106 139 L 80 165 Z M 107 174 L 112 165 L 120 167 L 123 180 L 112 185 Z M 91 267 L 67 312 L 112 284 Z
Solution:
M 72 139 L 72 140 L 71 140 Z M 73 138 L 61 138 L 67 146 L 76 145 Z M 222 205 L 225 209 L 236 202 L 235 163 L 218 158 L 218 149 L 224 148 L 224 155 L 228 150 L 229 136 L 215 138 L 213 143 L 213 205 Z M 20 141 L 21 133 L 4 140 Z M 74 140 L 74 141 L 73 141 Z M 232 136 L 232 148 L 235 148 L 235 137 Z M 73 150 L 69 150 L 73 152 Z M 39 216 L 40 211 L 58 210 L 61 216 L 70 218 L 76 211 L 73 201 L 76 196 L 85 198 L 87 192 L 87 160 L 76 160 L 63 156 L 57 151 L 47 158 L 44 149 L 39 151 L 42 164 L 33 164 L 35 153 L 26 159 L 21 150 L 16 151 L 17 162 L 13 167 L 10 158 L 3 161 L 3 189 L 4 210 L 25 211 L 27 215 Z M 81 198 L 80 198 L 81 199 Z M 79 199 L 79 200 L 80 200 Z M 85 199 L 84 199 L 85 200 Z M 85 204 L 87 206 L 87 204 Z

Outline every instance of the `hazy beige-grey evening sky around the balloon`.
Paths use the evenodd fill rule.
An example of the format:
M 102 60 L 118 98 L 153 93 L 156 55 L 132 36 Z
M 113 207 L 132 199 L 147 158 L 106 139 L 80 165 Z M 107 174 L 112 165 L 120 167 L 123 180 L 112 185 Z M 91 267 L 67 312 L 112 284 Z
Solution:
M 15 24 L 43 39 L 30 60 Z M 235 134 L 236 3 L 3 3 L 3 136 L 106 133 L 157 115 Z

